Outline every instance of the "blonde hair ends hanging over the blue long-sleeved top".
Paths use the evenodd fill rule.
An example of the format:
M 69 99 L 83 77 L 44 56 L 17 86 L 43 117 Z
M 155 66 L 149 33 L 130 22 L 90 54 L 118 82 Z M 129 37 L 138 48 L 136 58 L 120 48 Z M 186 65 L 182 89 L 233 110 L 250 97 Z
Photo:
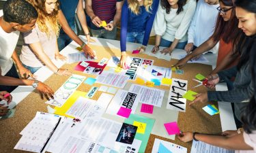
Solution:
M 144 1 L 143 5 L 147 12 L 150 12 L 152 9 L 153 0 L 142 0 Z M 127 0 L 129 9 L 136 15 L 140 13 L 139 2 L 137 0 Z

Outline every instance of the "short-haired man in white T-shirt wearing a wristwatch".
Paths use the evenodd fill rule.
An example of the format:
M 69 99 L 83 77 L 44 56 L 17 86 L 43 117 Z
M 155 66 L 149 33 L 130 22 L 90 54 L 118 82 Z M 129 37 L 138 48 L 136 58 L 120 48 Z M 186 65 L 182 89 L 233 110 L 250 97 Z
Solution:
M 3 15 L 3 16 L 2 16 Z M 12 92 L 17 86 L 33 86 L 41 97 L 53 98 L 53 90 L 38 80 L 26 80 L 31 72 L 23 67 L 15 52 L 20 32 L 31 31 L 35 27 L 38 12 L 25 0 L 8 0 L 0 14 L 0 89 Z M 24 79 L 19 79 L 12 59 Z

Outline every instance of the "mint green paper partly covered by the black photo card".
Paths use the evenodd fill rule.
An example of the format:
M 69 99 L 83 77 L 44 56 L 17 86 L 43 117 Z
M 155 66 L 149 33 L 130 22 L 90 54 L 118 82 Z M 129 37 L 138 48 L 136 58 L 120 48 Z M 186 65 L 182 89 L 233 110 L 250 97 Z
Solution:
M 150 139 L 150 133 L 153 129 L 155 120 L 152 118 L 139 116 L 137 114 L 130 114 L 129 118 L 124 120 L 124 122 L 127 124 L 134 124 L 134 122 L 141 122 L 144 125 L 146 125 L 145 129 L 143 129 L 143 132 L 144 132 L 143 134 L 137 132 L 135 135 L 135 139 L 141 140 L 141 147 L 139 148 L 139 152 L 145 152 L 147 141 L 148 139 Z

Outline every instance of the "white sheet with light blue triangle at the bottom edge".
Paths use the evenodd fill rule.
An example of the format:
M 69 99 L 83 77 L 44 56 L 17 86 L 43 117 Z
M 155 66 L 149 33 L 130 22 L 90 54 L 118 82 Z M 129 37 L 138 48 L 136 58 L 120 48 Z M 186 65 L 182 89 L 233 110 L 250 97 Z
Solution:
M 175 143 L 171 143 L 168 141 L 155 139 L 152 153 L 162 153 L 164 151 L 171 153 L 187 153 L 187 149 L 182 146 L 176 145 Z

